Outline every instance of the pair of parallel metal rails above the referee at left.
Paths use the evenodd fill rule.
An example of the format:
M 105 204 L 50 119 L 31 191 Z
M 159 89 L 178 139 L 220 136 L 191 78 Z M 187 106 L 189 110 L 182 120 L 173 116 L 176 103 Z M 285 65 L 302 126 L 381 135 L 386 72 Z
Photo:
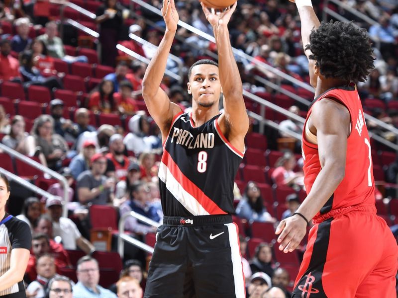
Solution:
M 64 176 L 62 176 L 60 173 L 57 173 L 56 171 L 53 171 L 53 170 L 49 169 L 48 167 L 45 167 L 41 163 L 39 163 L 33 159 L 30 159 L 27 156 L 15 151 L 14 149 L 11 149 L 1 143 L 0 143 L 0 150 L 8 153 L 8 155 L 10 155 L 14 158 L 18 158 L 22 162 L 38 169 L 39 171 L 42 171 L 43 173 L 46 173 L 46 174 L 50 175 L 51 177 L 54 177 L 55 179 L 59 180 L 63 184 L 63 189 L 64 189 L 64 197 L 63 197 L 63 204 L 62 204 L 62 216 L 68 217 L 67 204 L 69 202 L 69 197 L 68 197 L 69 184 Z M 4 173 L 6 172 L 7 176 L 11 177 L 11 179 L 15 180 L 17 183 L 33 190 L 34 192 L 36 192 L 42 196 L 45 196 L 47 198 L 49 197 L 48 195 L 50 195 L 50 194 L 48 192 L 45 192 L 44 190 L 40 189 L 39 187 L 32 185 L 31 183 L 27 182 L 26 180 L 22 179 L 21 177 L 18 177 L 17 175 L 10 173 L 9 171 L 7 171 L 3 168 L 0 168 L 0 169 Z M 53 195 L 50 195 L 50 197 L 53 197 Z

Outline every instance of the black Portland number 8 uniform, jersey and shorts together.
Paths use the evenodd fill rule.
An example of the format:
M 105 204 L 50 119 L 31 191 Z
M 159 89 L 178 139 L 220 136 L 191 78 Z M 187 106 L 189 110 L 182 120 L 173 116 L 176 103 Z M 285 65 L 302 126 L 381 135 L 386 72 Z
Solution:
M 219 115 L 195 127 L 173 119 L 159 166 L 163 225 L 145 298 L 245 298 L 233 183 L 243 153 L 223 136 Z

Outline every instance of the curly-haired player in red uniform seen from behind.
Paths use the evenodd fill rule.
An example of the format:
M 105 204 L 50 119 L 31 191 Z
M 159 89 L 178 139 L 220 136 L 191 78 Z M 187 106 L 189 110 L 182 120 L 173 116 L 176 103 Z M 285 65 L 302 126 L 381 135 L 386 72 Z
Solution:
M 296 0 L 315 99 L 302 136 L 307 197 L 282 221 L 279 249 L 293 251 L 313 219 L 292 297 L 395 298 L 398 247 L 376 215 L 369 134 L 355 82 L 373 68 L 372 48 L 352 23 L 319 23 Z

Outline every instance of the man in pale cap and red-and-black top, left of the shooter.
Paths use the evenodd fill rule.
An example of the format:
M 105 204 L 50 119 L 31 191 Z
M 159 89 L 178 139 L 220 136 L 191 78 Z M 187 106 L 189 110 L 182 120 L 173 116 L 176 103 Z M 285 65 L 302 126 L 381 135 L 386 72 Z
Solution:
M 124 155 L 124 151 L 123 137 L 119 134 L 111 136 L 109 138 L 109 153 L 105 155 L 108 162 L 105 173 L 108 177 L 115 177 L 117 181 L 126 180 L 127 176 L 129 160 Z

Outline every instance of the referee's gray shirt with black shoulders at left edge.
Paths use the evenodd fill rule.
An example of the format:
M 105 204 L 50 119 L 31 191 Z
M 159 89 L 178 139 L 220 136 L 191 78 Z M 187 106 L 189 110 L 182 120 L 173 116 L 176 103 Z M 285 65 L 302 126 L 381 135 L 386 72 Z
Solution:
M 12 215 L 5 214 L 0 222 L 0 276 L 8 271 L 11 260 L 11 250 L 14 248 L 26 248 L 32 246 L 32 235 L 28 224 Z M 0 291 L 1 298 L 24 298 L 25 288 L 23 282 L 12 285 L 10 288 Z

